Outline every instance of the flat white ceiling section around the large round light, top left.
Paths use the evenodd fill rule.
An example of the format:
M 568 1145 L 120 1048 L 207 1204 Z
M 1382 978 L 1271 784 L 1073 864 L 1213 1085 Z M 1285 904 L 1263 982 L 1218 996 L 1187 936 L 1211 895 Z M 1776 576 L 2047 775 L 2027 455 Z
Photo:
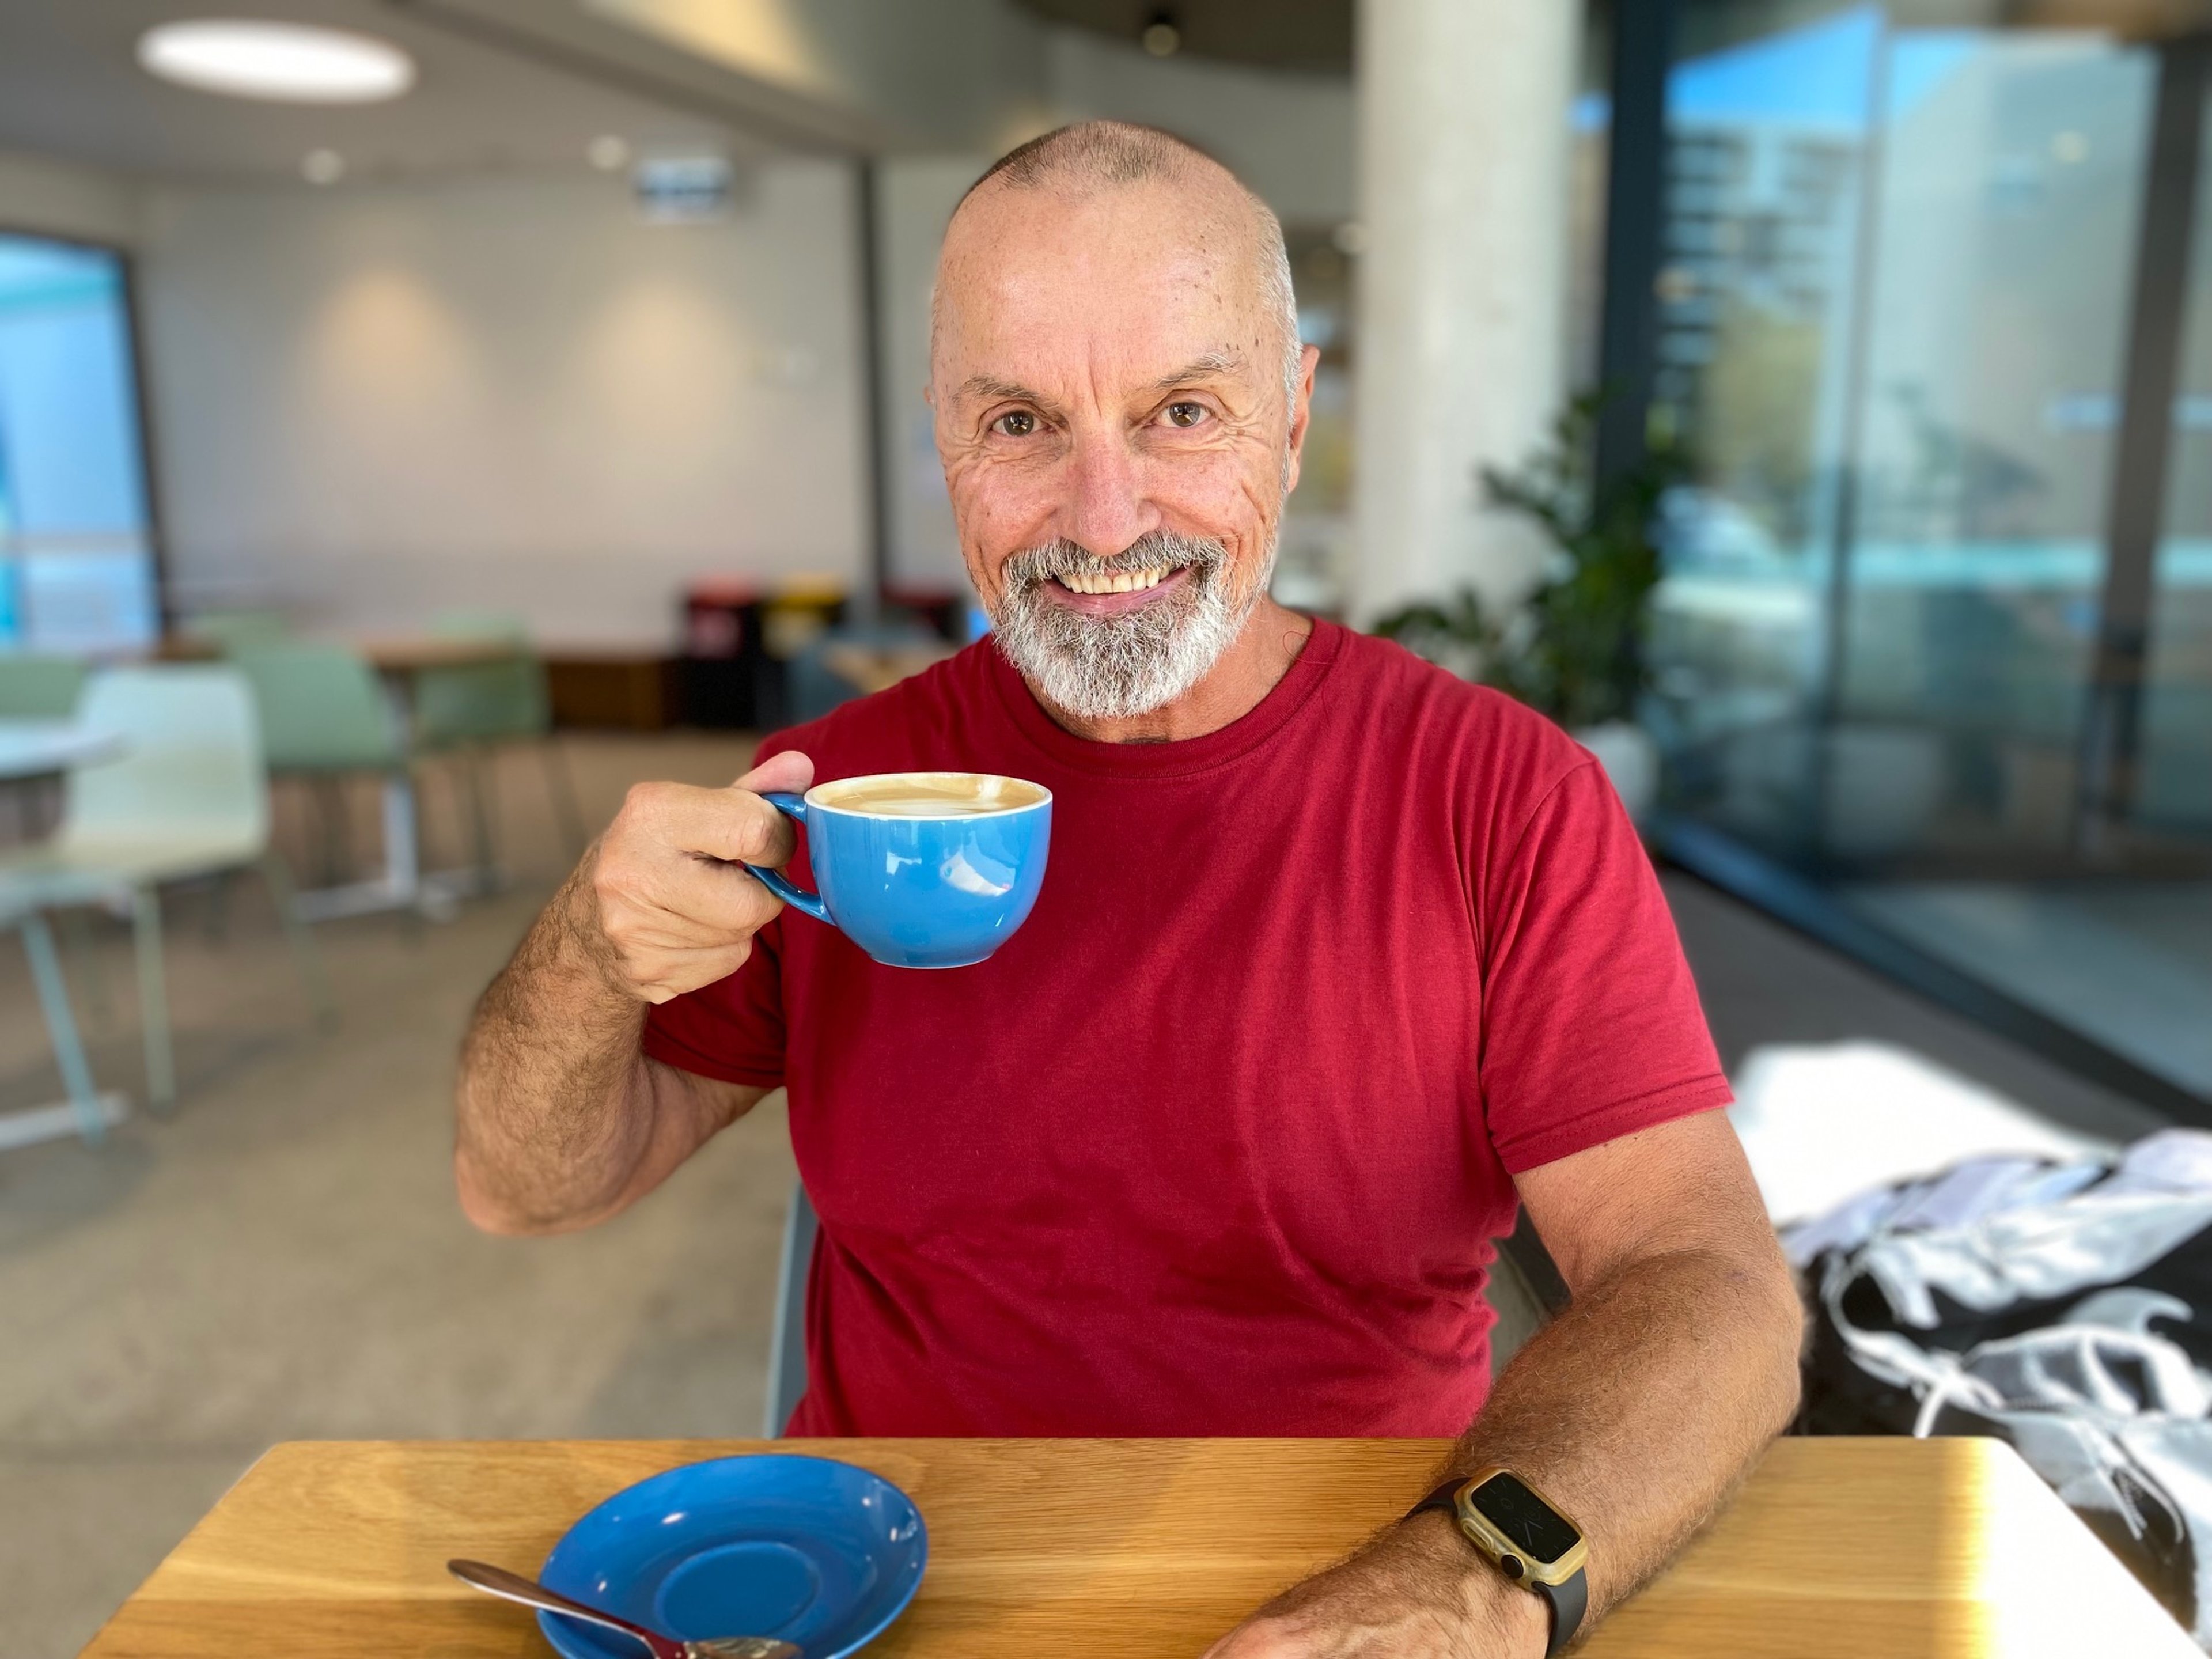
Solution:
M 133 58 L 157 22 L 243 13 L 383 35 L 420 80 L 389 104 L 263 104 L 157 82 Z M 330 148 L 349 177 L 420 177 L 584 168 L 602 133 L 646 153 L 765 153 L 697 104 L 672 108 L 376 0 L 0 0 L 0 148 L 170 179 L 299 179 L 301 157 Z

